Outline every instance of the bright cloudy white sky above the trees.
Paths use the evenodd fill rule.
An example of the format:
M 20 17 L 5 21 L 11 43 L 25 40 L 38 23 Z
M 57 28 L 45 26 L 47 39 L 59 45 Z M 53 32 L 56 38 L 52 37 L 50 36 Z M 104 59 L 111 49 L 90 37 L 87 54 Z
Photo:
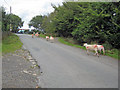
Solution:
M 47 15 L 54 11 L 51 3 L 62 5 L 63 0 L 0 0 L 0 5 L 6 8 L 6 12 L 18 15 L 24 21 L 22 28 L 29 28 L 29 21 L 36 15 Z

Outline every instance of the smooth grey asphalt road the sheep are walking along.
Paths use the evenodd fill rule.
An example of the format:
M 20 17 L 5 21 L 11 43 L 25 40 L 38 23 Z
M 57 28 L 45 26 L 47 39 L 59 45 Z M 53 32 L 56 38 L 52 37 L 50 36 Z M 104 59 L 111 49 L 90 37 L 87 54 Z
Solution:
M 118 88 L 118 60 L 31 35 L 18 35 L 38 61 L 42 88 Z

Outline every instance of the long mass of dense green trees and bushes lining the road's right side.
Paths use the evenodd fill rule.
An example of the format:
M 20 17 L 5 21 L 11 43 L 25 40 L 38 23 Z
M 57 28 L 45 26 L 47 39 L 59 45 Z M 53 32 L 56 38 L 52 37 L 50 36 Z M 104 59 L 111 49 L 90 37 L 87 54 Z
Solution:
M 73 1 L 52 7 L 54 12 L 34 21 L 47 34 L 72 38 L 80 45 L 102 44 L 108 51 L 120 49 L 120 2 Z

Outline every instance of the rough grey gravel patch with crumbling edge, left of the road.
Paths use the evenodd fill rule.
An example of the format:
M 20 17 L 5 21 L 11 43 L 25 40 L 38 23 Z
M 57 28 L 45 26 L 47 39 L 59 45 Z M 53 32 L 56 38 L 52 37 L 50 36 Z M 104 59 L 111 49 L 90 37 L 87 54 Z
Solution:
M 40 66 L 29 51 L 20 49 L 2 57 L 2 88 L 36 88 Z

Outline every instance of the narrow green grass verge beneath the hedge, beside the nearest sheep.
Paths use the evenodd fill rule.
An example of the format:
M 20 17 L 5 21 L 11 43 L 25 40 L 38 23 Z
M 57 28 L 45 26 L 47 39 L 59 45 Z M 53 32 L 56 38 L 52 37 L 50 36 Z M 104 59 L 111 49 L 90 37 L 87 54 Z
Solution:
M 74 46 L 74 47 L 86 50 L 86 48 L 84 46 L 80 46 L 80 45 L 77 45 L 77 44 L 70 43 L 62 37 L 59 37 L 58 41 L 63 43 L 63 44 L 69 45 L 69 46 Z M 110 57 L 115 58 L 115 59 L 118 59 L 118 52 L 119 51 L 117 49 L 106 50 L 105 55 L 110 56 Z

